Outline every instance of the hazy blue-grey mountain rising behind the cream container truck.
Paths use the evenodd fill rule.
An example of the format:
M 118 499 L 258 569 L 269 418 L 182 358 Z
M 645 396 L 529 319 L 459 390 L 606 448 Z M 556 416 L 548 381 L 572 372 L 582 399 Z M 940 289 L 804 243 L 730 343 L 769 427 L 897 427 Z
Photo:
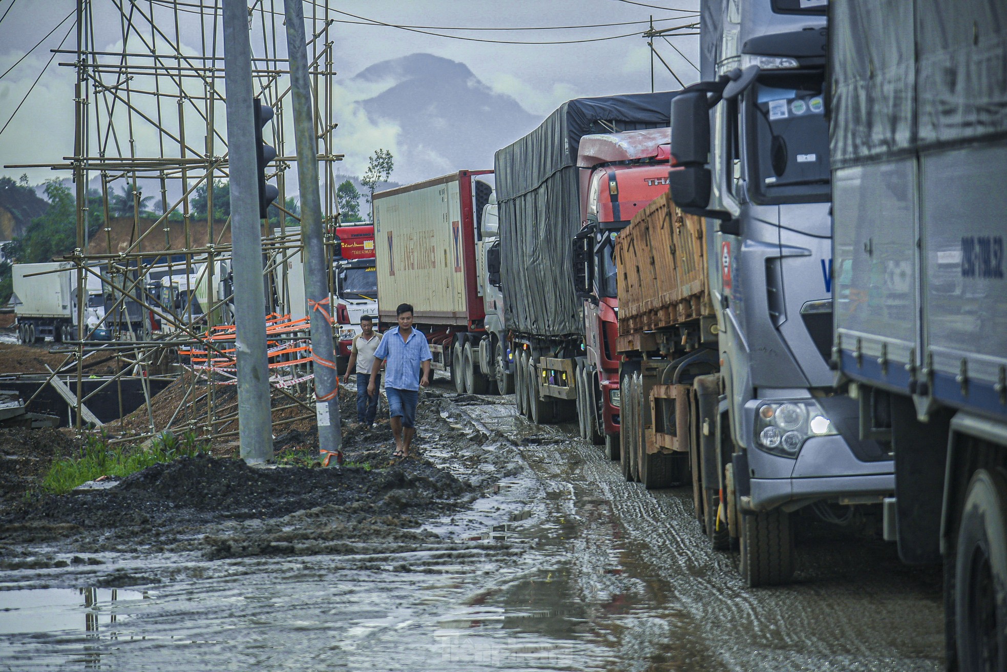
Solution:
M 389 84 L 358 105 L 372 122 L 401 129 L 393 175 L 404 182 L 492 168 L 497 149 L 541 122 L 514 98 L 494 93 L 465 63 L 430 53 L 375 63 L 353 80 Z

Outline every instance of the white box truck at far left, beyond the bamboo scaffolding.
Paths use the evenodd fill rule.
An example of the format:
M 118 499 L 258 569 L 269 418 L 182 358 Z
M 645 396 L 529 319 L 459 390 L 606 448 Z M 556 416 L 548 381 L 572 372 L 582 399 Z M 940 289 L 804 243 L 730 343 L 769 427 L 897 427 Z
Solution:
M 74 264 L 14 264 L 11 273 L 20 343 L 40 343 L 46 337 L 56 343 L 77 340 L 80 331 Z M 91 273 L 87 274 L 87 295 L 85 324 L 96 326 L 105 316 L 106 298 L 101 279 Z

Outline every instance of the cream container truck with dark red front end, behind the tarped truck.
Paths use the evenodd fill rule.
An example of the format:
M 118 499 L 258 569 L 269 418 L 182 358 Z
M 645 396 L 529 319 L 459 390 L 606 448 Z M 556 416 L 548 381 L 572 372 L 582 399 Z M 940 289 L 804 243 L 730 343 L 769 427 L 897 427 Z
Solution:
M 449 372 L 459 392 L 482 394 L 510 380 L 505 334 L 494 317 L 498 301 L 488 298 L 487 314 L 480 276 L 495 262 L 478 258 L 495 240 L 495 220 L 483 217 L 491 212 L 492 192 L 491 170 L 459 170 L 374 196 L 382 330 L 396 324 L 396 306 L 412 304 L 413 326 L 430 343 L 433 370 Z

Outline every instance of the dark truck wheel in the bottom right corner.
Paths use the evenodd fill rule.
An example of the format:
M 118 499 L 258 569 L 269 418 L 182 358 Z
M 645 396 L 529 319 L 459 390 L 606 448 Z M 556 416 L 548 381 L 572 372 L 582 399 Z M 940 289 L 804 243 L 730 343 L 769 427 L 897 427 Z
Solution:
M 1007 669 L 1007 486 L 995 472 L 972 477 L 955 565 L 959 669 Z

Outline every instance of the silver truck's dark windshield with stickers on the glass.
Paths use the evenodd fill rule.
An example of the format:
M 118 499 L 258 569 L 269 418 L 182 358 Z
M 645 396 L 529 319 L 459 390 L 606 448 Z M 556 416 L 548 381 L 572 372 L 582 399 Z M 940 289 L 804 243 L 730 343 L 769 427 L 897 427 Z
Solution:
M 759 204 L 829 200 L 829 124 L 823 73 L 759 76 L 749 105 L 749 185 Z

